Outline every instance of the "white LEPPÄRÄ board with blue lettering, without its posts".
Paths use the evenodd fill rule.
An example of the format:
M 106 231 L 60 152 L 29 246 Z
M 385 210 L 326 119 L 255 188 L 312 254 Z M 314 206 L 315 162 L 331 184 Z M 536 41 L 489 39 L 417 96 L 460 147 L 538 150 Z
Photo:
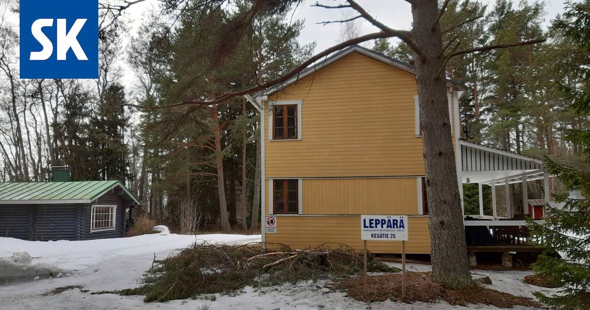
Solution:
M 360 239 L 408 241 L 408 216 L 360 216 Z

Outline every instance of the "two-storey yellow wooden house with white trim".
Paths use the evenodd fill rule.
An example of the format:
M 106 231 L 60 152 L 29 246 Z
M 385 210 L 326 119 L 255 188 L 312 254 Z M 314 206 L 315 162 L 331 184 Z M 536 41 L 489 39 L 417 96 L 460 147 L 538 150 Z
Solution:
M 484 148 L 478 154 L 485 157 L 494 149 L 455 135 L 463 93 L 463 87 L 448 83 L 456 152 L 477 146 Z M 407 253 L 430 253 L 417 94 L 414 68 L 353 46 L 280 87 L 246 96 L 264 116 L 263 242 L 294 249 L 336 242 L 360 249 L 360 214 L 404 214 L 409 221 Z M 536 164 L 532 170 L 511 169 L 506 178 L 542 169 L 537 159 L 502 152 L 493 154 L 522 156 L 519 160 Z M 458 171 L 461 165 L 457 156 Z M 485 167 L 478 171 L 490 172 Z M 477 178 L 473 173 L 470 177 Z M 469 182 L 462 174 L 457 181 Z M 480 215 L 485 217 L 483 211 Z M 273 229 L 267 229 L 269 218 Z M 401 244 L 369 241 L 368 249 L 399 253 Z

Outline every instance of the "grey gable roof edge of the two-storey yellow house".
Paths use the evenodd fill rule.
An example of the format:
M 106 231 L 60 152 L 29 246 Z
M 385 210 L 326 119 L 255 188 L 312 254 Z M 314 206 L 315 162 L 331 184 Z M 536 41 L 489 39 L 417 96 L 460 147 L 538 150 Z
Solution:
M 253 95 L 253 97 L 259 97 L 259 96 L 265 96 L 265 95 L 268 96 L 270 94 L 276 93 L 279 90 L 284 89 L 285 87 L 290 86 L 293 83 L 296 83 L 297 81 L 303 79 L 304 77 L 309 76 L 310 74 L 313 74 L 316 71 L 329 66 L 330 64 L 334 63 L 335 61 L 340 60 L 340 59 L 348 56 L 349 54 L 352 54 L 355 52 L 362 54 L 364 56 L 367 56 L 367 57 L 371 57 L 375 60 L 381 61 L 382 63 L 389 64 L 390 66 L 394 66 L 396 68 L 399 68 L 400 70 L 403 70 L 408 73 L 416 75 L 416 69 L 411 64 L 407 64 L 407 63 L 404 63 L 403 61 L 399 61 L 394 58 L 385 56 L 385 54 L 377 53 L 376 51 L 370 50 L 369 48 L 362 47 L 360 45 L 352 45 L 350 47 L 347 47 L 347 48 L 344 48 L 340 51 L 337 51 L 336 53 L 333 53 L 332 55 L 324 58 L 323 60 L 316 61 L 316 63 L 310 65 L 307 68 L 304 68 L 303 70 L 300 71 L 299 74 L 297 74 L 294 77 L 291 77 L 291 79 L 284 81 L 284 83 L 281 83 L 278 86 L 270 87 L 266 90 L 255 93 Z M 460 89 L 466 89 L 465 86 L 455 83 L 454 81 L 451 81 L 448 79 L 447 79 L 447 86 L 457 87 Z

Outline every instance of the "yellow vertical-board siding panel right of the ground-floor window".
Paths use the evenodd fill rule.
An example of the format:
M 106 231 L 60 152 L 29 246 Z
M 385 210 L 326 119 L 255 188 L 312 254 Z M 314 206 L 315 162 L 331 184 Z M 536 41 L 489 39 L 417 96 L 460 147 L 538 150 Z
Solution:
M 303 180 L 303 214 L 418 214 L 416 178 Z

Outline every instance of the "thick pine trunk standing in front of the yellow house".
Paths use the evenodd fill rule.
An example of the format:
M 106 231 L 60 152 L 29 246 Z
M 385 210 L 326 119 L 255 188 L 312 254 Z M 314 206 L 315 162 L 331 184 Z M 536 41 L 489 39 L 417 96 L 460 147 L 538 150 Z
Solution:
M 432 280 L 452 288 L 473 285 L 467 262 L 446 92 L 438 2 L 412 1 L 412 38 L 424 53 L 417 61 L 418 100 L 430 221 Z M 437 77 L 440 74 L 440 77 Z

